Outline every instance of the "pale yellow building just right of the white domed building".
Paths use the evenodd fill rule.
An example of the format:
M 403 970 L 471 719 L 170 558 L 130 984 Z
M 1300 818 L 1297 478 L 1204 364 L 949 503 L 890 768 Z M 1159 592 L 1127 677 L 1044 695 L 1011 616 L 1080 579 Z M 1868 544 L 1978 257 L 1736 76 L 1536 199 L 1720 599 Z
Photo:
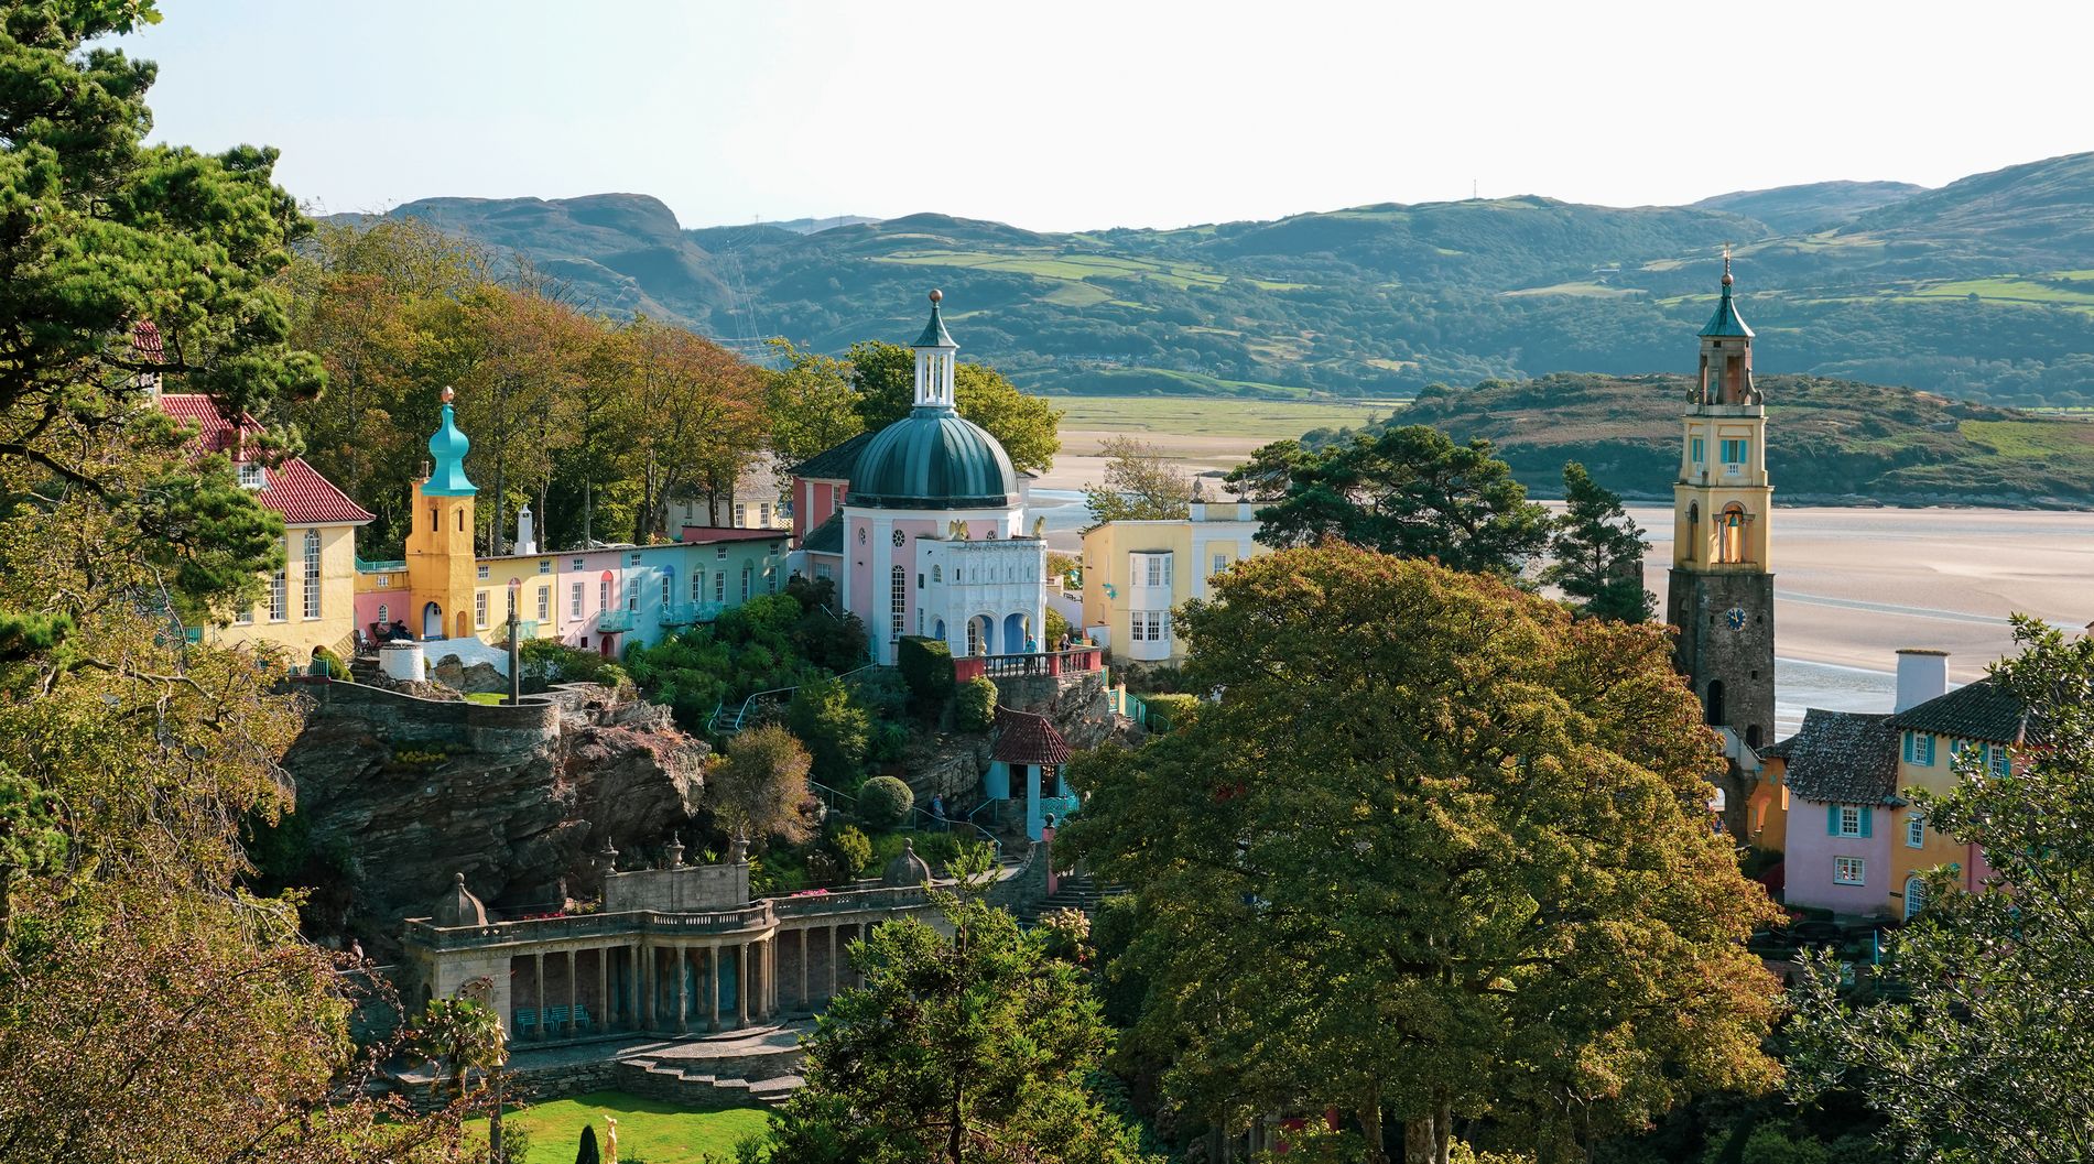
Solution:
M 1083 630 L 1120 662 L 1185 655 L 1171 611 L 1208 597 L 1208 580 L 1246 557 L 1254 540 L 1250 502 L 1191 502 L 1191 517 L 1108 521 L 1083 536 Z

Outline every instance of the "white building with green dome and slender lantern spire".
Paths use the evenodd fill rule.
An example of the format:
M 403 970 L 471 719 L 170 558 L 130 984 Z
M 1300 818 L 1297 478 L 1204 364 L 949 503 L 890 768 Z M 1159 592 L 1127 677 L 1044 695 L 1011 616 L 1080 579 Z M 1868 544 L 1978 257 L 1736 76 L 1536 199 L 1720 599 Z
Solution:
M 959 415 L 959 345 L 930 293 L 907 417 L 794 467 L 802 572 L 833 578 L 875 664 L 905 634 L 953 655 L 1041 651 L 1047 542 L 1024 532 L 1024 488 L 997 438 Z

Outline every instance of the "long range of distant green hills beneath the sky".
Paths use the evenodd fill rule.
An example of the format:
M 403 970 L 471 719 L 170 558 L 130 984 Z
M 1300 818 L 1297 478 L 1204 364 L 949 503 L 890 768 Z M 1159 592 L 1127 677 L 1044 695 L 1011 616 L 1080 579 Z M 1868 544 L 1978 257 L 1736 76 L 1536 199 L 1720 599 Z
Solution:
M 1039 391 L 1409 396 L 1552 371 L 1684 368 L 1736 245 L 1761 366 L 2004 404 L 2094 404 L 2094 155 L 1918 191 L 1818 182 L 1690 207 L 1545 197 L 1380 203 L 1275 222 L 1034 232 L 913 214 L 812 232 L 681 230 L 639 195 L 429 199 L 607 312 L 762 356 L 921 324 Z M 817 220 L 829 222 L 829 220 Z

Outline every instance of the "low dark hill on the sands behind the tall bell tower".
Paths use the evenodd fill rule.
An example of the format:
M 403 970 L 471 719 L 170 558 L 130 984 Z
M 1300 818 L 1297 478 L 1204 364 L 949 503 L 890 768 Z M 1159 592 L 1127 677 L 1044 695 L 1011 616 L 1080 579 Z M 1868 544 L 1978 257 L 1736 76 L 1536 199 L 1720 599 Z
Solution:
M 1755 377 L 1767 473 L 1782 502 L 2094 505 L 2094 423 L 1824 377 Z M 1581 461 L 1625 496 L 1671 498 L 1690 377 L 1550 375 L 1434 389 L 1386 423 L 1487 438 L 1531 490 L 1562 492 Z M 1332 433 L 1311 433 L 1328 440 Z

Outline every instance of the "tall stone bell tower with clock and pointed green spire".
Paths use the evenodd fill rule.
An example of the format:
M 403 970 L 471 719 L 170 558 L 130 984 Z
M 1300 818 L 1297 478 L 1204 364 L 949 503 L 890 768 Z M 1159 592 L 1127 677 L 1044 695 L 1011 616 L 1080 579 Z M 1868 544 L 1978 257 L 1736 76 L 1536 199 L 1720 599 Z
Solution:
M 1711 726 L 1748 747 L 1774 743 L 1774 567 L 1767 525 L 1767 408 L 1753 385 L 1753 329 L 1723 297 L 1700 331 L 1673 484 L 1673 572 L 1665 620 L 1679 630 L 1673 666 Z M 1742 810 L 1742 798 L 1734 808 Z

